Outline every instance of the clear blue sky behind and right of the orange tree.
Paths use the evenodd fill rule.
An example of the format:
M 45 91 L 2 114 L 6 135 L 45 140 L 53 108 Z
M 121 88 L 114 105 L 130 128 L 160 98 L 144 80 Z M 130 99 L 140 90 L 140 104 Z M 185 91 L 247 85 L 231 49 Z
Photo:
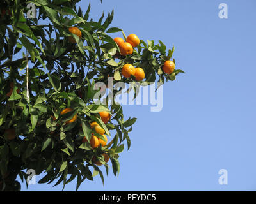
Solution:
M 114 8 L 111 27 L 174 44 L 177 68 L 186 74 L 164 84 L 161 112 L 124 106 L 124 114 L 138 120 L 131 149 L 120 154 L 120 175 L 104 171 L 104 186 L 97 176 L 79 191 L 255 191 L 256 1 L 90 2 L 93 20 Z M 79 3 L 84 12 L 88 3 Z M 228 5 L 228 19 L 218 17 L 220 3 Z M 227 185 L 218 184 L 223 168 Z M 30 185 L 28 191 L 62 189 L 52 186 Z M 65 187 L 75 189 L 76 180 Z

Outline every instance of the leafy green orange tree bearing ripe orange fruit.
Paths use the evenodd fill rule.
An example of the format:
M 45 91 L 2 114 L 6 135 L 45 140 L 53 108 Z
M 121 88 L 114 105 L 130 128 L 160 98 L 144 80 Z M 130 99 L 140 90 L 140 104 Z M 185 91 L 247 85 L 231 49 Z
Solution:
M 108 174 L 108 161 L 118 175 L 118 154 L 125 143 L 129 149 L 128 135 L 136 118 L 124 120 L 122 106 L 115 102 L 94 103 L 93 96 L 99 92 L 95 83 L 108 84 L 108 77 L 113 77 L 114 84 L 149 84 L 175 80 L 183 72 L 174 69 L 174 47 L 166 52 L 162 41 L 145 42 L 136 35 L 127 40 L 122 29 L 109 27 L 113 11 L 105 20 L 104 15 L 98 21 L 88 20 L 90 4 L 83 12 L 77 2 L 1 1 L 2 191 L 19 191 L 17 176 L 26 182 L 28 169 L 36 175 L 45 173 L 38 183 L 63 182 L 64 188 L 77 179 L 77 189 L 95 175 L 104 182 L 99 166 Z M 35 18 L 28 13 L 31 3 Z M 124 42 L 117 44 L 109 36 L 115 32 L 122 32 Z M 167 63 L 167 73 L 166 61 L 172 61 Z M 131 64 L 131 70 L 124 77 L 126 64 Z

